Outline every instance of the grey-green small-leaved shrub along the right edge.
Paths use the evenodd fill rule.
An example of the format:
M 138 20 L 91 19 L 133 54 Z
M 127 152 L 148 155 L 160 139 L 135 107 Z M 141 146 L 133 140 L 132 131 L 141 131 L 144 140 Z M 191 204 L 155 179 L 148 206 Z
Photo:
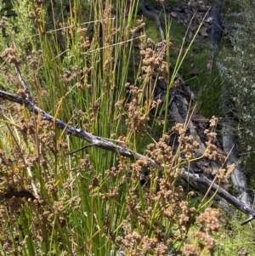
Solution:
M 241 1 L 245 13 L 245 23 L 237 24 L 237 31 L 232 38 L 233 49 L 225 58 L 226 81 L 235 103 L 235 114 L 240 123 L 237 125 L 238 149 L 247 171 L 253 172 L 255 164 L 255 22 L 254 2 Z

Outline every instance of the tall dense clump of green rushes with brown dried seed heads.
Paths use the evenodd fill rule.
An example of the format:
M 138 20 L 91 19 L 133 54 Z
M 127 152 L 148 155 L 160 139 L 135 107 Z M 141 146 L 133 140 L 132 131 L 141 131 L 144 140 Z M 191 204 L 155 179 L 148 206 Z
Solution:
M 22 95 L 19 65 L 42 110 L 145 157 L 133 162 L 94 146 L 68 155 L 85 142 L 3 101 L 1 255 L 215 255 L 220 212 L 201 213 L 212 198 L 194 206 L 194 193 L 177 184 L 198 145 L 184 125 L 167 126 L 167 113 L 150 115 L 161 112 L 156 79 L 170 88 L 178 72 L 169 71 L 170 36 L 146 37 L 138 1 L 44 2 L 14 1 L 17 16 L 2 17 L 1 86 Z M 212 145 L 214 122 L 206 154 L 223 164 Z M 175 154 L 167 144 L 173 132 Z M 164 170 L 151 168 L 149 157 Z

